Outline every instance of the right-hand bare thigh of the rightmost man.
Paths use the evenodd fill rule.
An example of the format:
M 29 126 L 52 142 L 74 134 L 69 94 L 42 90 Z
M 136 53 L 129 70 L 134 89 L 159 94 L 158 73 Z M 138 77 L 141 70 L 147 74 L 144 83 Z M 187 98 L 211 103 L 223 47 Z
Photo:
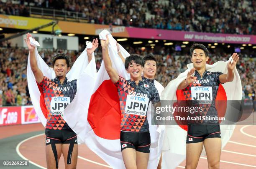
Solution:
M 219 168 L 220 153 L 221 153 L 221 139 L 208 138 L 204 141 L 205 152 L 209 168 Z

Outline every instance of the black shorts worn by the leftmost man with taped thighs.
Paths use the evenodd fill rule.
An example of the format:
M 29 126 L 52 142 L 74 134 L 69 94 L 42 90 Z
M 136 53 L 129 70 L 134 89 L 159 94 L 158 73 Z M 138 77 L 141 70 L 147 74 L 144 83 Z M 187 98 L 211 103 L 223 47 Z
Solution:
M 77 144 L 77 134 L 72 129 L 45 129 L 46 145 Z

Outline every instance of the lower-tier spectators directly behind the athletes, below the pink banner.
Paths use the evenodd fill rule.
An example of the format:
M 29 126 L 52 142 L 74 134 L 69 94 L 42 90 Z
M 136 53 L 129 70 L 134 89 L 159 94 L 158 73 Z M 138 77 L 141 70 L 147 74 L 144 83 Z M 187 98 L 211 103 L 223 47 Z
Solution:
M 10 47 L 8 44 L 2 44 L 0 47 L 0 106 L 4 105 L 30 105 L 27 85 L 27 60 L 28 50 L 25 48 Z M 44 61 L 51 65 L 51 57 L 56 52 L 67 52 L 72 62 L 82 53 L 77 51 L 52 51 L 39 50 L 39 54 Z M 189 54 L 174 52 L 170 48 L 162 47 L 160 50 L 141 50 L 141 48 L 126 47 L 129 53 L 136 53 L 142 56 L 153 54 L 158 60 L 158 70 L 156 80 L 161 82 L 165 87 L 168 82 L 176 78 L 180 72 L 187 69 L 190 61 Z M 213 64 L 218 60 L 227 60 L 230 54 L 227 53 L 211 53 L 209 64 Z M 102 62 L 102 51 L 99 48 L 95 51 L 95 60 L 97 70 Z M 241 76 L 243 99 L 255 100 L 255 52 L 251 55 L 243 54 L 241 60 L 237 64 L 239 75 Z

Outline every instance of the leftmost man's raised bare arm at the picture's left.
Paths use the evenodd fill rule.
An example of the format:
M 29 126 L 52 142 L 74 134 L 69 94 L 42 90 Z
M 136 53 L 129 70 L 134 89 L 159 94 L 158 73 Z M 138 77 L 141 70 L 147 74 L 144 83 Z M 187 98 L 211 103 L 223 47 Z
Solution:
M 27 37 L 24 40 L 28 46 L 28 50 L 30 53 L 30 65 L 31 65 L 32 72 L 36 78 L 36 82 L 39 83 L 39 82 L 42 82 L 42 80 L 44 79 L 44 75 L 37 66 L 36 56 L 35 56 L 35 47 L 30 44 L 29 37 L 32 37 L 32 36 L 29 33 L 27 33 Z

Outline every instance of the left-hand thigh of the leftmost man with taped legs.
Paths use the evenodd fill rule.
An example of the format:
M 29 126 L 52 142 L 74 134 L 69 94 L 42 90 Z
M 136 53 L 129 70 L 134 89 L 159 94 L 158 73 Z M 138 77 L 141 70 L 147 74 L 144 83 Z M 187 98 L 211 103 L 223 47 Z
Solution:
M 54 145 L 56 147 L 57 160 L 59 164 L 59 159 L 61 157 L 61 152 L 62 152 L 62 146 L 61 144 L 54 144 Z M 56 169 L 56 160 L 55 160 L 54 150 L 53 150 L 54 145 L 52 146 L 51 144 L 48 144 L 45 147 L 47 169 Z

